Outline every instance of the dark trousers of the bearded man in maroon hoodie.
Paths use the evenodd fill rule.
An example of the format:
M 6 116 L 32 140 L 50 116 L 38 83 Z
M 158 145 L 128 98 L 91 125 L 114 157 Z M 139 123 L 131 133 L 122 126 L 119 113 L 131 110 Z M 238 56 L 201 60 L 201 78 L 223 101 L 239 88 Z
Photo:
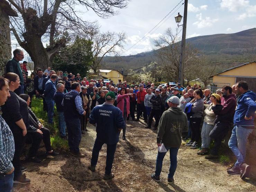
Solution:
M 214 139 L 214 146 L 211 149 L 212 155 L 218 155 L 218 152 L 221 146 L 221 141 L 227 135 L 228 131 L 230 130 L 230 127 L 231 126 L 227 123 L 217 122 L 217 124 L 215 124 L 215 126 L 211 130 L 209 136 L 212 139 Z

